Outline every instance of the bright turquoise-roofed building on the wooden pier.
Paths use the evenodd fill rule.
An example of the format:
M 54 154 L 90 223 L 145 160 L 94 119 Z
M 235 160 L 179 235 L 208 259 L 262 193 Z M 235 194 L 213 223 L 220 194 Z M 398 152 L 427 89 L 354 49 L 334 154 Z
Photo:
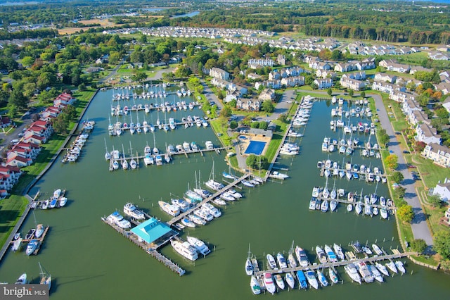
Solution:
M 150 218 L 140 225 L 131 229 L 139 240 L 148 244 L 157 243 L 158 239 L 174 235 L 172 229 L 166 223 L 162 223 L 155 218 Z

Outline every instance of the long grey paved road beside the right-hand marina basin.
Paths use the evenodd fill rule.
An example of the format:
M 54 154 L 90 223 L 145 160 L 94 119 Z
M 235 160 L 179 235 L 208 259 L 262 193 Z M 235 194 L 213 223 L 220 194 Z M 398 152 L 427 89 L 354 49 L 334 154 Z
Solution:
M 378 118 L 380 119 L 381 125 L 386 130 L 387 135 L 390 137 L 390 141 L 387 144 L 389 146 L 389 150 L 399 157 L 398 170 L 404 175 L 404 180 L 400 183 L 406 189 L 404 200 L 413 207 L 414 211 L 414 218 L 411 223 L 414 239 L 423 239 L 428 245 L 432 245 L 432 235 L 430 229 L 428 228 L 426 215 L 423 212 L 422 206 L 420 206 L 420 200 L 416 194 L 413 176 L 406 166 L 406 161 L 404 160 L 402 154 L 403 149 L 400 148 L 400 144 L 397 142 L 397 137 L 392 129 L 392 124 L 390 122 L 389 115 L 387 115 L 385 110 L 385 106 L 383 105 L 383 100 L 381 99 L 381 96 L 377 94 L 370 94 L 368 96 L 375 99 L 375 107 L 377 108 Z

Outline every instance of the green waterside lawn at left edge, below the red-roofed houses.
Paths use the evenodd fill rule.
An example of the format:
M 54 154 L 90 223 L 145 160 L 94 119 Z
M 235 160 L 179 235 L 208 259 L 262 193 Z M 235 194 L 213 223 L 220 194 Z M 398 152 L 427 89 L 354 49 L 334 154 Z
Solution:
M 11 234 L 13 227 L 17 223 L 20 215 L 27 207 L 28 200 L 24 196 L 9 196 L 0 201 L 0 245 L 3 246 Z

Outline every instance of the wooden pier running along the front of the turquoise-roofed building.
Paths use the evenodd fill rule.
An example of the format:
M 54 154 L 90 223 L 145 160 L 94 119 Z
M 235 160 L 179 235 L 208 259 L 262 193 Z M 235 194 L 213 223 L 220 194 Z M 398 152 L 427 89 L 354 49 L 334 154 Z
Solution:
M 181 268 L 179 265 L 177 265 L 176 263 L 174 263 L 173 261 L 171 261 L 169 258 L 167 258 L 166 256 L 163 256 L 162 254 L 160 254 L 157 249 L 166 244 L 167 242 L 169 242 L 170 239 L 167 239 L 165 242 L 163 242 L 162 244 L 147 244 L 146 242 L 140 242 L 138 237 L 136 237 L 136 235 L 134 235 L 132 232 L 129 232 L 127 230 L 124 230 L 122 228 L 120 228 L 119 226 L 110 223 L 106 218 L 101 218 L 101 220 L 110 225 L 111 227 L 113 227 L 117 232 L 119 232 L 121 235 L 123 235 L 124 237 L 127 237 L 127 239 L 129 239 L 129 241 L 133 242 L 134 244 L 136 244 L 137 246 L 139 246 L 139 248 L 143 249 L 144 251 L 146 251 L 148 254 L 150 254 L 150 256 L 152 256 L 153 258 L 156 258 L 157 261 L 159 261 L 160 263 L 163 263 L 167 268 L 169 268 L 170 270 L 172 270 L 174 273 L 177 273 L 178 275 L 184 275 L 184 273 L 186 273 L 186 270 L 184 270 L 183 268 Z M 176 235 L 178 235 L 179 233 L 176 232 L 174 234 L 174 236 L 172 237 L 176 237 Z

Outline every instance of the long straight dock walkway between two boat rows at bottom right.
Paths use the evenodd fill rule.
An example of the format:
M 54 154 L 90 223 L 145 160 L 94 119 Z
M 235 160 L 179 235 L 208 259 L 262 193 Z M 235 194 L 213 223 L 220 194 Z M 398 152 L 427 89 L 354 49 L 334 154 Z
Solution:
M 394 251 L 396 250 L 396 251 Z M 352 259 L 347 259 L 344 261 L 336 261 L 335 263 L 313 263 L 309 264 L 306 267 L 296 267 L 296 268 L 283 268 L 283 269 L 275 269 L 275 270 L 259 270 L 258 272 L 255 271 L 256 276 L 262 276 L 263 273 L 271 273 L 271 274 L 279 274 L 279 273 L 290 273 L 290 272 L 297 272 L 299 270 L 316 270 L 316 269 L 322 269 L 322 268 L 335 268 L 340 267 L 343 265 L 348 265 L 349 263 L 354 263 L 356 261 L 365 261 L 366 263 L 373 263 L 376 261 L 385 261 L 385 260 L 392 260 L 395 258 L 402 258 L 406 256 L 416 255 L 416 252 L 400 252 L 397 249 L 392 250 L 392 254 L 385 254 L 381 256 L 371 256 L 371 257 L 364 257 L 364 258 L 357 258 L 353 253 L 353 255 L 349 255 Z M 349 251 L 346 251 L 345 254 L 347 255 Z M 347 257 L 348 258 L 348 257 Z

